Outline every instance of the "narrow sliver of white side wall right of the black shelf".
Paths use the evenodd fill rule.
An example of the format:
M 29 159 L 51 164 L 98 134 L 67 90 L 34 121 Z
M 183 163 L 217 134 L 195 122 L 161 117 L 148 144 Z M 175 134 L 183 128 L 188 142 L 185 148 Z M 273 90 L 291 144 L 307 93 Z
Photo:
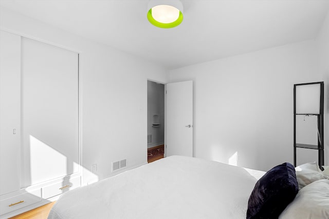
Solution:
M 329 137 L 329 129 L 328 129 L 328 122 L 329 122 L 329 12 L 326 15 L 326 18 L 323 22 L 322 28 L 319 31 L 319 34 L 316 38 L 316 48 L 317 48 L 317 59 L 318 59 L 318 70 L 320 72 L 320 74 L 323 74 L 324 80 L 325 80 L 325 84 L 324 84 L 324 92 L 325 92 L 325 96 L 324 96 L 324 112 L 325 112 L 325 121 L 326 123 L 324 123 L 324 130 L 325 130 L 325 135 L 324 135 L 324 142 L 325 142 L 325 150 L 324 150 L 324 154 L 326 155 L 326 157 L 324 157 L 324 162 L 328 165 L 328 159 L 329 159 L 329 141 L 328 141 L 328 137 Z

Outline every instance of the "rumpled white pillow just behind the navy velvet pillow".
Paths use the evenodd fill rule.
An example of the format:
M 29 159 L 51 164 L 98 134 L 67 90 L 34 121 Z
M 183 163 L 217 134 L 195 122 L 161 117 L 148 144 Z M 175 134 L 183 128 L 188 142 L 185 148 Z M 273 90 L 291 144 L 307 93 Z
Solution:
M 295 170 L 299 189 L 315 181 L 329 179 L 329 175 L 324 175 L 316 162 L 300 165 Z

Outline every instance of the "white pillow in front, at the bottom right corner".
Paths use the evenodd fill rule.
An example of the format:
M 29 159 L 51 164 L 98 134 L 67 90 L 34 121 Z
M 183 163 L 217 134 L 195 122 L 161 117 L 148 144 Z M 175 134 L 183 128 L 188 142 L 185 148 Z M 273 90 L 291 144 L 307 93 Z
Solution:
M 299 190 L 279 219 L 329 218 L 329 180 L 313 182 Z

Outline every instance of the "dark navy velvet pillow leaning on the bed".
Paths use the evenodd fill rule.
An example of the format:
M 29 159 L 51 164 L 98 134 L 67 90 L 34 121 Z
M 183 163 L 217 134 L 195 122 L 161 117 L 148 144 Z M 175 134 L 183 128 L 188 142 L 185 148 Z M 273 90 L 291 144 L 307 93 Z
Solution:
M 278 218 L 297 193 L 294 166 L 283 163 L 273 167 L 259 179 L 251 192 L 247 219 Z

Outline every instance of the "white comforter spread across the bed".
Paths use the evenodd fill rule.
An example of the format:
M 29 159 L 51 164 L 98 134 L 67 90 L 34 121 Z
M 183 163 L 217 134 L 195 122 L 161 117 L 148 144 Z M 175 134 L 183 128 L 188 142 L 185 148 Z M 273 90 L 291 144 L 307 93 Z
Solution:
M 170 156 L 64 193 L 48 218 L 246 218 L 253 173 Z

